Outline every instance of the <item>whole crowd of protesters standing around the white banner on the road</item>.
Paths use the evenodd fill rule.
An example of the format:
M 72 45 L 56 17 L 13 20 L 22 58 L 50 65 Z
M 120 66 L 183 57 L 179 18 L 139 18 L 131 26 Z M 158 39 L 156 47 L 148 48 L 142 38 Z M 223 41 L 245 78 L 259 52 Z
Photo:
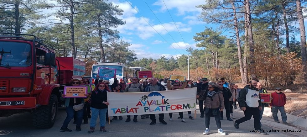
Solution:
M 67 117 L 64 120 L 63 126 L 60 131 L 71 132 L 67 126 L 71 119 L 74 119 L 74 124 L 76 124 L 76 131 L 81 131 L 80 125 L 82 119 L 83 124 L 88 124 L 88 119 L 90 121 L 90 130 L 88 133 L 93 133 L 95 131 L 96 120 L 99 116 L 100 119 L 100 131 L 107 132 L 105 129 L 106 121 L 112 122 L 113 120 L 122 120 L 122 116 L 114 116 L 112 119 L 108 118 L 107 108 L 109 103 L 107 102 L 107 92 L 153 92 L 153 91 L 164 91 L 164 90 L 176 90 L 184 88 L 197 87 L 196 91 L 196 103 L 199 103 L 200 118 L 205 118 L 205 131 L 204 135 L 209 134 L 210 129 L 210 118 L 214 117 L 216 121 L 216 126 L 218 133 L 226 135 L 226 133 L 221 129 L 221 120 L 223 120 L 223 110 L 226 112 L 226 120 L 234 121 L 237 119 L 234 114 L 233 109 L 240 108 L 244 111 L 244 117 L 234 121 L 234 127 L 239 128 L 239 124 L 254 118 L 254 128 L 256 133 L 264 134 L 261 132 L 261 118 L 263 115 L 264 107 L 269 105 L 272 107 L 272 113 L 274 121 L 278 122 L 277 113 L 278 110 L 282 114 L 282 121 L 284 124 L 287 122 L 287 116 L 284 112 L 284 104 L 286 103 L 286 96 L 281 92 L 281 88 L 277 87 L 276 92 L 272 93 L 272 103 L 261 103 L 260 93 L 267 93 L 266 89 L 262 87 L 262 84 L 257 81 L 250 81 L 249 85 L 246 85 L 242 89 L 238 89 L 238 85 L 235 83 L 227 83 L 224 78 L 220 78 L 217 82 L 210 82 L 208 78 L 204 77 L 202 79 L 198 78 L 196 81 L 186 80 L 185 82 L 169 80 L 168 78 L 157 79 L 139 79 L 134 76 L 124 80 L 118 81 L 116 76 L 114 76 L 114 83 L 110 85 L 108 80 L 99 80 L 97 76 L 95 80 L 95 89 L 90 94 L 85 94 L 86 98 L 66 98 L 66 112 Z M 89 84 L 88 79 L 77 80 L 73 79 L 70 82 L 71 86 L 78 86 L 82 84 Z M 65 94 L 62 95 L 65 97 Z M 84 103 L 84 108 L 79 111 L 74 111 L 72 106 Z M 238 104 L 238 105 L 237 105 Z M 237 107 L 238 106 L 238 107 Z M 169 113 L 169 121 L 174 121 L 173 113 Z M 156 124 L 155 114 L 141 115 L 141 119 L 149 118 L 151 119 L 150 125 Z M 133 116 L 133 122 L 138 122 L 138 115 Z M 191 111 L 188 111 L 188 118 L 194 119 L 191 116 Z M 105 119 L 105 120 L 104 120 Z M 186 122 L 183 116 L 183 112 L 179 112 L 178 119 L 181 122 Z M 131 116 L 128 115 L 125 122 L 130 122 Z M 164 121 L 164 114 L 159 114 L 159 122 L 162 124 L 167 124 Z

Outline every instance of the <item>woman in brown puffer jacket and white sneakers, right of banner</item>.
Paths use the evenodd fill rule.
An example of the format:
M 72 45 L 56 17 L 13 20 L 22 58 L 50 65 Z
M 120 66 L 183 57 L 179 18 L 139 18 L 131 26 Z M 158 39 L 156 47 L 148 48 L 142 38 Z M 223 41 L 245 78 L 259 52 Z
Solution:
M 219 85 L 210 82 L 208 90 L 204 92 L 202 99 L 205 105 L 205 125 L 206 130 L 203 134 L 209 134 L 210 118 L 214 117 L 217 126 L 217 132 L 225 135 L 226 133 L 221 129 L 221 111 L 225 108 L 223 93 L 220 92 Z

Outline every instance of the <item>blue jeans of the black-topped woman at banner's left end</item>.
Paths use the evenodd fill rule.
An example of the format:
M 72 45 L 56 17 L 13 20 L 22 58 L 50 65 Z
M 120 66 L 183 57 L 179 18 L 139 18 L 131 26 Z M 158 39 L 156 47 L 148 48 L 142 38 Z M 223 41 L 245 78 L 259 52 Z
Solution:
M 96 121 L 99 115 L 99 123 L 101 127 L 104 127 L 106 125 L 106 113 L 107 113 L 108 108 L 104 108 L 104 109 L 97 109 L 97 108 L 92 108 L 91 107 L 91 111 L 92 111 L 92 118 L 91 118 L 91 122 L 90 122 L 90 126 L 92 128 L 95 128 L 96 126 Z

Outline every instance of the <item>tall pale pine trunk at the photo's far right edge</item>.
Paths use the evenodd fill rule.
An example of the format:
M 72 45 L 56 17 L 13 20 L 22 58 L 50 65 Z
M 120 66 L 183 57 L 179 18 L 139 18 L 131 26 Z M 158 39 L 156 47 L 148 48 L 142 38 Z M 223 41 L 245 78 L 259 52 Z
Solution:
M 302 12 L 302 7 L 301 7 L 301 2 L 300 0 L 296 0 L 296 9 L 297 9 L 297 14 L 299 18 L 299 31 L 301 34 L 301 56 L 302 56 L 302 65 L 304 65 L 303 72 L 304 74 L 304 81 L 307 87 L 307 54 L 306 54 L 306 32 L 305 32 L 305 25 L 304 25 L 304 17 L 303 17 L 303 12 Z

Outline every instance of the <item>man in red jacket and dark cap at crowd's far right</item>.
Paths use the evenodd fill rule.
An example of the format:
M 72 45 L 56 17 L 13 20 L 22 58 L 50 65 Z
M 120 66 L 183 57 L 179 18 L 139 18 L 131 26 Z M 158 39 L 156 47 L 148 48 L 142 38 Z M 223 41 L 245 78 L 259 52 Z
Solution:
M 276 90 L 274 93 L 272 93 L 272 103 L 270 103 L 270 106 L 272 108 L 273 118 L 274 121 L 277 123 L 280 123 L 277 117 L 278 110 L 281 113 L 281 119 L 283 120 L 284 124 L 287 124 L 287 114 L 285 112 L 285 104 L 287 101 L 286 95 L 281 92 L 280 87 L 276 87 Z

